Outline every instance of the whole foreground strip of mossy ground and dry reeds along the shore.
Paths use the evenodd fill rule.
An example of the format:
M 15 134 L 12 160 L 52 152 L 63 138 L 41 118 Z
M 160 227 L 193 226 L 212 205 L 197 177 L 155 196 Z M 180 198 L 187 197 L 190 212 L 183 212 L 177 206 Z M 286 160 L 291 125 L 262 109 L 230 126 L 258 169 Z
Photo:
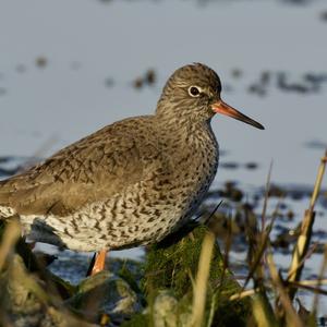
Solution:
M 47 266 L 53 258 L 31 251 L 16 219 L 1 222 L 0 326 L 322 326 L 317 313 L 319 298 L 327 294 L 326 245 L 317 277 L 305 280 L 302 270 L 315 250 L 312 227 L 326 164 L 327 152 L 287 274 L 274 258 L 270 233 L 277 214 L 267 217 L 268 174 L 261 221 L 245 228 L 249 272 L 242 286 L 230 265 L 229 215 L 223 249 L 217 242 L 220 204 L 147 247 L 144 262 L 111 258 L 109 270 L 78 284 L 50 272 Z M 311 307 L 301 303 L 302 289 L 314 294 Z

